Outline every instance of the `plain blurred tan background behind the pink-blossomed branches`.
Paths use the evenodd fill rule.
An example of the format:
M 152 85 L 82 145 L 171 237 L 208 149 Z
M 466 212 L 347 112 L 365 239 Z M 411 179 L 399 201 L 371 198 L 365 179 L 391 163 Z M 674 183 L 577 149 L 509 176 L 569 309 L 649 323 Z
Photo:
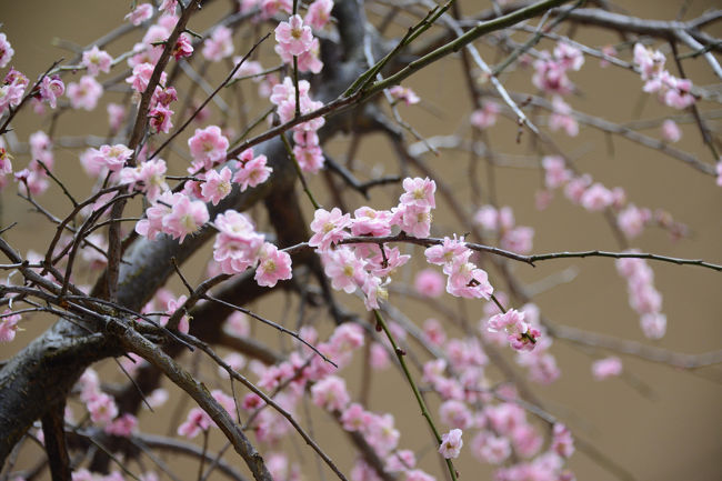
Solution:
M 32 81 L 52 61 L 74 56 L 67 48 L 62 48 L 63 46 L 91 44 L 93 40 L 121 23 L 123 16 L 129 11 L 129 3 L 96 0 L 0 1 L 2 23 L 0 31 L 8 36 L 16 50 L 12 66 Z M 489 7 L 487 3 L 489 2 L 479 0 L 463 1 L 462 12 L 469 13 L 479 9 L 480 4 L 487 8 Z M 658 0 L 629 2 L 624 7 L 630 9 L 630 14 L 659 20 L 672 20 L 682 8 L 685 8 L 683 20 L 686 20 L 706 9 L 719 8 L 720 3 L 699 0 L 686 2 Z M 212 2 L 192 19 L 191 28 L 203 31 L 227 9 L 228 2 Z M 237 54 L 244 53 L 243 49 L 250 46 L 251 39 L 259 37 L 257 32 L 250 30 L 240 34 L 243 37 L 242 40 L 237 39 Z M 268 30 L 270 28 L 265 26 L 259 28 L 261 32 Z M 570 32 L 562 29 L 562 33 Z M 709 33 L 719 38 L 722 34 L 722 27 L 718 24 L 711 28 Z M 575 31 L 574 38 L 594 47 L 620 41 L 616 34 L 586 28 Z M 130 46 L 132 41 L 123 40 L 111 44 L 108 50 L 116 57 Z M 478 42 L 478 46 L 489 63 L 500 60 L 497 53 L 482 42 Z M 538 46 L 540 50 L 552 48 L 553 43 L 549 41 L 542 41 Z M 272 59 L 272 54 L 270 44 L 265 46 L 261 61 L 265 58 L 270 60 L 264 61 L 264 66 L 278 62 Z M 625 58 L 629 59 L 629 54 Z M 220 76 L 228 71 L 225 67 L 213 66 L 208 73 L 209 83 L 215 86 L 221 79 Z M 719 91 L 720 79 L 713 76 L 703 60 L 688 60 L 684 67 L 688 77 L 695 84 L 716 84 Z M 668 60 L 668 68 L 675 72 L 671 59 Z M 533 92 L 531 73 L 531 69 L 525 72 L 519 71 L 504 79 L 504 84 L 511 91 Z M 568 102 L 575 110 L 615 122 L 660 119 L 678 113 L 659 104 L 653 97 L 643 93 L 639 76 L 622 69 L 602 69 L 596 59 L 586 58 L 582 70 L 572 73 L 571 77 L 579 91 L 568 99 Z M 66 84 L 71 80 L 73 76 L 67 76 Z M 422 136 L 459 133 L 469 137 L 468 119 L 472 106 L 458 58 L 447 58 L 437 62 L 409 79 L 404 86 L 413 88 L 422 98 L 422 103 L 402 107 L 400 111 Z M 188 88 L 187 83 L 181 83 L 179 97 L 183 96 L 183 88 Z M 254 93 L 252 90 L 248 92 L 250 96 Z M 108 100 L 118 102 L 122 101 L 121 99 L 123 99 L 122 93 L 107 92 L 102 102 Z M 251 111 L 254 108 L 258 110 L 257 106 L 251 107 Z M 702 103 L 700 109 L 703 112 L 720 112 L 718 106 L 709 102 Z M 212 116 L 217 116 L 217 112 Z M 27 142 L 30 133 L 47 129 L 48 118 L 48 116 L 38 118 L 30 110 L 22 112 L 13 122 L 18 140 Z M 709 120 L 709 124 L 719 134 L 720 121 L 712 119 Z M 676 147 L 711 163 L 711 154 L 702 143 L 696 126 L 690 122 L 680 126 L 683 136 Z M 517 143 L 517 131 L 513 120 L 501 118 L 497 126 L 488 131 L 489 146 L 512 156 L 531 154 L 528 133 L 524 133 L 522 141 Z M 659 127 L 643 132 L 654 138 L 661 137 Z M 91 113 L 64 114 L 54 134 L 60 137 L 86 133 L 100 136 L 107 133 L 107 116 L 103 107 Z M 616 137 L 608 137 L 583 126 L 581 133 L 574 139 L 560 133 L 553 137 L 574 159 L 580 171 L 589 172 L 595 181 L 606 187 L 624 188 L 630 200 L 636 206 L 663 209 L 690 229 L 689 238 L 673 241 L 663 230 L 649 228 L 643 236 L 632 241 L 633 247 L 644 252 L 722 262 L 722 218 L 720 217 L 722 189 L 715 184 L 712 177 L 704 176 L 654 150 Z M 329 151 L 341 156 L 347 151 L 348 143 L 348 138 L 334 139 L 329 144 Z M 57 174 L 73 192 L 78 192 L 79 196 L 87 193 L 90 183 L 79 169 L 80 149 L 57 147 L 54 153 Z M 382 138 L 365 138 L 355 158 L 358 163 L 364 166 L 361 169 L 364 169 L 362 172 L 367 174 L 397 173 L 393 151 Z M 172 160 L 172 156 L 169 160 Z M 452 187 L 469 212 L 473 212 L 479 206 L 474 206 L 469 187 L 468 160 L 468 153 L 451 150 L 443 151 L 440 157 L 427 157 L 429 166 L 437 176 Z M 24 166 L 27 161 L 27 156 L 18 154 L 13 162 L 17 162 L 17 166 Z M 182 169 L 184 163 L 179 170 Z M 479 176 L 482 184 L 485 186 L 490 176 L 485 167 L 481 169 Z M 546 210 L 538 211 L 534 208 L 535 192 L 543 184 L 543 172 L 540 169 L 494 168 L 493 176 L 500 206 L 513 208 L 518 224 L 534 228 L 534 253 L 590 249 L 619 250 L 603 216 L 590 214 L 578 206 L 571 206 L 561 192 Z M 312 179 L 311 186 L 322 204 L 332 206 L 333 199 L 328 194 L 325 184 L 321 180 Z M 399 189 L 394 187 L 379 189 L 373 192 L 370 204 L 379 209 L 390 208 L 395 204 L 398 194 Z M 312 219 L 312 210 L 307 209 L 305 199 L 300 199 L 307 219 Z M 361 197 L 353 194 L 348 196 L 347 200 L 353 208 L 367 203 Z M 60 197 L 54 187 L 40 198 L 40 201 L 51 208 L 56 214 L 61 214 L 69 209 L 69 203 Z M 450 214 L 448 206 L 440 203 L 434 213 L 434 233 L 440 236 L 462 233 L 463 231 Z M 12 184 L 2 191 L 1 223 L 4 227 L 10 222 L 18 222 L 18 226 L 6 236 L 12 245 L 23 252 L 29 249 L 44 252 L 51 232 L 50 226 L 44 218 L 32 212 L 29 206 L 16 196 Z M 415 253 L 420 254 L 421 251 L 417 250 Z M 184 268 L 187 272 L 197 270 L 195 275 L 192 275 L 193 279 L 202 275 L 208 259 L 203 253 L 198 258 Z M 654 284 L 663 294 L 663 312 L 668 317 L 668 332 L 660 341 L 650 341 L 643 337 L 638 314 L 628 303 L 625 280 L 618 275 L 612 260 L 546 261 L 539 263 L 535 269 L 520 264 L 514 265 L 513 270 L 519 278 L 530 283 L 556 279 L 560 273 L 573 277 L 573 281 L 562 282 L 542 292 L 535 299 L 542 313 L 554 323 L 630 339 L 675 352 L 703 353 L 719 350 L 722 339 L 720 273 L 696 267 L 679 267 L 660 262 L 650 262 L 650 265 L 654 270 Z M 399 280 L 411 280 L 414 270 L 419 267 L 421 263 L 414 263 L 409 270 L 398 274 Z M 494 283 L 493 275 L 491 282 Z M 503 283 L 499 282 L 499 284 Z M 180 290 L 177 292 L 181 293 Z M 474 325 L 482 315 L 482 307 L 479 303 L 459 303 L 453 299 L 447 299 L 444 302 L 452 309 L 461 310 Z M 283 317 L 294 319 L 284 310 L 284 307 L 289 305 L 292 304 L 289 304 L 288 298 L 277 293 L 253 305 L 252 309 L 271 319 Z M 434 315 L 427 307 L 411 301 L 400 301 L 397 307 L 418 324 Z M 0 347 L 0 357 L 4 359 L 11 355 L 50 325 L 51 321 L 49 318 L 36 318 L 32 322 L 26 322 L 23 324 L 26 331 L 20 332 L 12 344 Z M 259 338 L 278 342 L 275 333 L 264 328 L 255 329 L 255 335 Z M 543 400 L 544 408 L 549 412 L 566 422 L 575 435 L 593 444 L 615 464 L 623 467 L 633 479 L 655 481 L 722 479 L 720 461 L 722 459 L 722 370 L 720 365 L 698 371 L 681 371 L 664 364 L 621 355 L 624 375 L 600 382 L 591 377 L 591 363 L 613 352 L 580 348 L 564 341 L 555 341 L 552 352 L 558 359 L 562 377 L 548 387 L 533 385 L 534 393 Z M 349 374 L 345 375 L 348 380 L 355 379 L 357 372 L 358 377 L 361 375 L 360 364 L 361 361 L 357 359 L 349 368 Z M 108 372 L 111 371 L 112 369 L 109 368 Z M 109 375 L 116 381 L 122 381 L 122 377 L 116 371 Z M 421 460 L 421 467 L 438 475 L 438 460 L 430 449 L 425 427 L 417 415 L 411 392 L 400 375 L 391 369 L 374 377 L 369 398 L 370 409 L 393 413 L 397 427 L 402 433 L 401 445 L 414 449 Z M 358 384 L 353 381 L 349 382 L 352 395 L 358 394 L 359 385 L 360 382 Z M 150 425 L 151 430 L 166 432 L 178 412 L 182 412 L 181 419 L 184 419 L 184 413 L 192 404 L 183 401 L 182 408 L 177 408 L 178 401 L 173 398 L 176 394 L 178 393 L 171 390 L 171 401 L 167 411 L 156 414 L 144 412 L 141 417 L 141 427 Z M 435 405 L 434 402 L 432 405 Z M 76 410 L 81 412 L 79 407 L 76 407 Z M 334 441 L 334 435 L 339 434 L 338 429 L 328 418 L 317 414 L 311 414 L 307 421 L 313 420 L 315 437 L 320 444 L 333 459 L 339 460 L 340 465 L 348 472 L 352 457 L 343 443 Z M 214 433 L 212 437 L 212 447 L 222 445 L 218 434 Z M 292 434 L 291 438 L 294 435 Z M 304 458 L 304 479 L 315 479 L 317 467 L 312 453 L 300 439 L 289 442 L 284 445 L 284 450 L 294 458 Z M 18 460 L 18 467 L 20 468 L 22 462 L 34 462 L 33 460 L 32 451 L 23 452 Z M 578 451 L 571 460 L 571 468 L 579 480 L 618 479 L 609 470 L 600 467 L 598 461 Z M 189 467 L 194 465 L 192 461 L 178 462 L 181 463 L 179 465 L 184 465 L 182 464 L 184 462 Z M 491 479 L 491 470 L 487 465 L 480 468 L 468 451 L 462 451 L 455 465 L 462 480 Z M 195 475 L 194 470 L 190 473 L 187 479 Z M 212 479 L 217 475 L 214 474 Z M 331 473 L 327 472 L 325 477 L 332 479 Z

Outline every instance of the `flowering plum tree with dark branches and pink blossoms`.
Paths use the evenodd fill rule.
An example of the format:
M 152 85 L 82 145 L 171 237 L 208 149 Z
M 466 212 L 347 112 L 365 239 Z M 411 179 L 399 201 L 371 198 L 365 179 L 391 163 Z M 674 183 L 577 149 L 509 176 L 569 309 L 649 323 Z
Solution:
M 42 232 L 41 250 L 28 250 L 29 221 L 2 219 L 0 341 L 16 347 L 0 368 L 3 480 L 46 467 L 58 480 L 189 478 L 159 457 L 168 451 L 194 459 L 198 479 L 455 480 L 481 463 L 490 479 L 572 480 L 575 450 L 633 479 L 537 387 L 562 377 L 560 343 L 589 355 L 580 383 L 620 377 L 649 394 L 620 355 L 710 374 L 722 351 L 663 344 L 653 269 L 678 264 L 719 285 L 722 267 L 641 250 L 645 230 L 692 242 L 685 219 L 663 210 L 675 199 L 640 204 L 638 186 L 600 181 L 598 163 L 586 173 L 574 142 L 602 132 L 612 159 L 615 143 L 639 144 L 664 163 L 652 181 L 676 162 L 701 186 L 686 196 L 722 186 L 720 97 L 705 87 L 722 78 L 710 33 L 722 11 L 660 21 L 606 1 L 157 3 L 133 2 L 43 72 L 13 68 L 13 39 L 0 33 L 0 184 Z M 588 39 L 592 27 L 603 43 Z M 461 114 L 408 86 L 445 77 L 439 64 L 464 82 L 452 90 L 468 102 Z M 610 97 L 611 109 L 654 113 L 574 109 L 594 94 L 576 83 L 591 68 L 650 103 Z M 423 107 L 455 131 L 423 134 Z M 107 123 L 59 130 L 94 110 Z M 683 134 L 700 140 L 675 147 Z M 375 138 L 389 162 L 363 154 Z M 76 160 L 56 162 L 68 149 Z M 521 173 L 503 180 L 507 168 Z M 537 188 L 515 184 L 529 174 Z M 548 212 L 555 193 L 604 222 L 615 245 L 585 236 L 586 250 L 532 253 L 534 229 L 504 203 L 525 199 L 513 206 L 525 212 L 533 198 Z M 574 313 L 564 325 L 552 315 L 572 303 L 539 300 L 574 279 L 555 262 L 592 257 L 615 267 L 645 339 L 604 333 L 618 320 L 603 313 L 595 329 Z M 552 270 L 530 280 L 535 265 Z M 49 317 L 34 338 L 19 332 Z M 403 408 L 372 400 L 384 377 Z M 149 425 L 173 403 L 169 390 L 180 408 L 160 435 Z M 410 413 L 418 435 L 399 428 Z M 328 431 L 313 429 L 321 417 Z

